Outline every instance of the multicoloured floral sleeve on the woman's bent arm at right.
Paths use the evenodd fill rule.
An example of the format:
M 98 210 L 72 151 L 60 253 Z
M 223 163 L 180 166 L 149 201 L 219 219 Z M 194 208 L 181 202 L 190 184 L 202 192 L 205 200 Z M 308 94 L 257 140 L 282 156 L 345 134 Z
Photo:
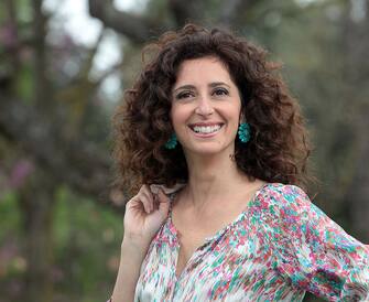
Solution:
M 328 301 L 369 301 L 369 246 L 347 235 L 297 186 L 276 188 L 270 199 L 264 225 L 279 273 Z

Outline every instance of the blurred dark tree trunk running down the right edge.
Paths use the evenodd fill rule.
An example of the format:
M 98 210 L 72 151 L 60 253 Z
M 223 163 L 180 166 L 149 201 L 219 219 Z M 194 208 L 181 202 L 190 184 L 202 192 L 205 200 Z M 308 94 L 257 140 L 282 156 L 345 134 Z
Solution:
M 355 175 L 345 201 L 347 203 L 350 220 L 351 234 L 363 242 L 369 244 L 369 101 L 368 101 L 368 71 L 369 62 L 366 60 L 369 52 L 369 0 L 366 0 L 366 17 L 362 20 L 355 20 L 350 15 L 354 10 L 354 1 L 348 4 L 346 22 L 344 24 L 344 50 L 346 52 L 345 75 L 349 89 L 347 100 L 348 110 L 355 115 L 356 131 L 356 163 Z

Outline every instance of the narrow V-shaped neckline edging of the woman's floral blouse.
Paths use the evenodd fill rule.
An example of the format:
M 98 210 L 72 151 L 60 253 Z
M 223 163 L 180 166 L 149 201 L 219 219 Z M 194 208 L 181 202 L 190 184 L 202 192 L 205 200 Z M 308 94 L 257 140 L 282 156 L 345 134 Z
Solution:
M 191 261 L 193 260 L 194 256 L 207 244 L 211 242 L 213 240 L 215 240 L 216 238 L 218 238 L 219 236 L 221 236 L 223 234 L 225 234 L 227 230 L 229 230 L 230 228 L 232 228 L 236 224 L 238 224 L 249 212 L 250 207 L 252 206 L 252 204 L 257 201 L 257 197 L 260 195 L 260 193 L 269 185 L 270 183 L 264 183 L 261 187 L 259 187 L 252 195 L 252 197 L 250 198 L 249 203 L 247 204 L 247 206 L 242 209 L 242 212 L 236 216 L 236 218 L 234 220 L 231 220 L 230 223 L 228 223 L 226 226 L 221 227 L 219 230 L 217 230 L 213 236 L 208 236 L 205 237 L 204 241 L 202 245 L 199 245 L 194 252 L 191 255 L 191 257 L 188 258 L 188 260 L 186 261 L 185 266 L 183 267 L 183 269 L 181 270 L 180 274 L 177 274 L 177 266 L 178 266 L 178 258 L 180 258 L 180 249 L 181 249 L 181 242 L 178 239 L 178 230 L 176 229 L 176 227 L 173 224 L 173 218 L 172 218 L 172 207 L 173 207 L 173 202 L 174 198 L 176 196 L 176 194 L 180 191 L 176 191 L 174 193 L 172 193 L 171 196 L 171 203 L 170 203 L 170 211 L 169 211 L 169 216 L 167 216 L 167 224 L 169 224 L 169 229 L 171 230 L 172 235 L 174 236 L 174 240 L 176 242 L 177 246 L 177 255 L 176 255 L 176 259 L 175 259 L 175 266 L 174 266 L 174 277 L 175 280 L 178 281 L 183 273 L 186 271 L 186 269 L 188 268 L 188 265 L 191 263 Z

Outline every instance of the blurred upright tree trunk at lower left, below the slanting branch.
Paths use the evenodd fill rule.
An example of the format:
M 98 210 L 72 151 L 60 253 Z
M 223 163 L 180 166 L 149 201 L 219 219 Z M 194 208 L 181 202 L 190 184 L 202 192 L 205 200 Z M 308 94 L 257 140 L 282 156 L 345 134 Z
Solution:
M 54 184 L 47 175 L 35 171 L 21 192 L 20 205 L 24 223 L 25 294 L 23 301 L 53 301 L 53 216 Z

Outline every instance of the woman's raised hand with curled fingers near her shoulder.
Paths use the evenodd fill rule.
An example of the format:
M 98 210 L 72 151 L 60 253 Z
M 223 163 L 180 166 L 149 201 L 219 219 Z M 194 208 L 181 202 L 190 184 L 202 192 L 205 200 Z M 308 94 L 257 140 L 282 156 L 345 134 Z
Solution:
M 145 249 L 167 217 L 170 198 L 160 190 L 153 194 L 149 185 L 141 186 L 139 193 L 126 205 L 124 245 Z

